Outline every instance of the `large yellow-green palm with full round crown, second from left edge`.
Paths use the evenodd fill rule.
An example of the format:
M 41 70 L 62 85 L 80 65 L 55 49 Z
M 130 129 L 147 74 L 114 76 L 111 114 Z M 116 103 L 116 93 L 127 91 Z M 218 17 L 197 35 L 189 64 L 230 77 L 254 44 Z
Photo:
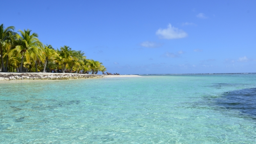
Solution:
M 38 34 L 33 33 L 30 35 L 31 30 L 24 29 L 24 32 L 21 30 L 18 30 L 20 32 L 19 34 L 16 34 L 16 37 L 18 41 L 21 41 L 21 44 L 16 46 L 14 50 L 12 50 L 11 54 L 21 54 L 21 63 L 20 63 L 20 70 L 19 72 L 22 72 L 22 66 L 23 66 L 23 59 L 26 58 L 27 63 L 30 63 L 31 54 L 34 55 L 41 55 L 39 54 L 39 49 L 43 47 L 43 44 L 38 39 Z

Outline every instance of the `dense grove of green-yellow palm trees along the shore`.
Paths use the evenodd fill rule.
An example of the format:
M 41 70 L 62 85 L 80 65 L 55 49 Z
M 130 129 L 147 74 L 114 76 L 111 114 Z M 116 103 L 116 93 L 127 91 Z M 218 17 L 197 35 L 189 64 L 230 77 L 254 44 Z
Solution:
M 106 67 L 99 61 L 86 59 L 84 52 L 64 45 L 54 50 L 43 45 L 38 34 L 27 29 L 14 32 L 14 27 L 0 25 L 0 71 L 1 72 L 73 72 L 102 74 Z

